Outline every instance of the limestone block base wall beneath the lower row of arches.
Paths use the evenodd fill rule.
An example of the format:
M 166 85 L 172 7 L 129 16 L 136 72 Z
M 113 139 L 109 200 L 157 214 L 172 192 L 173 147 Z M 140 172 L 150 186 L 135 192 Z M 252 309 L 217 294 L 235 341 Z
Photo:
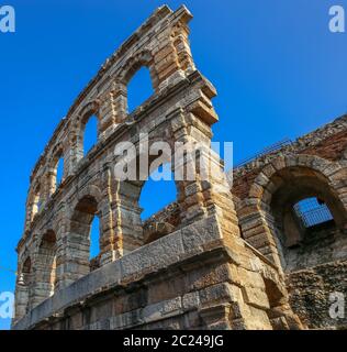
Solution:
M 14 329 L 298 329 L 277 268 L 209 217 L 57 292 Z

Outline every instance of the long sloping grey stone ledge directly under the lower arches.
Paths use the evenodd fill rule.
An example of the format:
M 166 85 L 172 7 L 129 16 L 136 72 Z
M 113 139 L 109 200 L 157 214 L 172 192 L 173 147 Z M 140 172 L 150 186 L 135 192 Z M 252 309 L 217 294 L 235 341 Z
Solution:
M 124 287 L 170 266 L 223 248 L 216 217 L 197 221 L 181 230 L 144 245 L 122 258 L 81 277 L 31 310 L 12 326 L 13 330 L 32 329 L 41 321 L 59 316 L 64 309 L 116 286 Z M 219 243 L 219 244 L 216 244 Z M 183 264 L 183 263 L 182 263 Z

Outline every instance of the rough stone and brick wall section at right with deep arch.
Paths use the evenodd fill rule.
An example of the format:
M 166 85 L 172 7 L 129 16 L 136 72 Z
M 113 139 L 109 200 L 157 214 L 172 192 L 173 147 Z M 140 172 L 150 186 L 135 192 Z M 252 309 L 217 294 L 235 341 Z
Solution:
M 345 329 L 329 295 L 347 294 L 347 116 L 234 169 L 243 238 L 282 267 L 290 304 L 312 329 Z M 293 205 L 317 197 L 334 220 L 304 229 Z M 346 315 L 346 311 L 345 311 Z

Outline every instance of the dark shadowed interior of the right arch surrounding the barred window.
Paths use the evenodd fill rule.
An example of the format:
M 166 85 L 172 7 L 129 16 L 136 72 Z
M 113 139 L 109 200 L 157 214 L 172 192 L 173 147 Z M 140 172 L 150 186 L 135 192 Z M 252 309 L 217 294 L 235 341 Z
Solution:
M 265 210 L 269 210 L 268 221 L 270 230 L 277 239 L 279 252 L 284 267 L 298 268 L 301 261 L 310 261 L 309 250 L 305 258 L 300 257 L 303 249 L 314 242 L 314 237 L 323 227 L 305 227 L 295 211 L 298 202 L 316 198 L 326 205 L 333 220 L 324 222 L 324 233 L 332 233 L 335 229 L 343 229 L 346 223 L 346 212 L 337 194 L 331 188 L 328 180 L 321 173 L 309 167 L 294 166 L 278 170 L 270 179 L 271 197 L 264 202 Z M 318 240 L 316 246 L 320 246 Z M 322 242 L 323 244 L 323 242 Z M 311 258 L 312 260 L 312 258 Z M 294 263 L 295 262 L 295 263 Z

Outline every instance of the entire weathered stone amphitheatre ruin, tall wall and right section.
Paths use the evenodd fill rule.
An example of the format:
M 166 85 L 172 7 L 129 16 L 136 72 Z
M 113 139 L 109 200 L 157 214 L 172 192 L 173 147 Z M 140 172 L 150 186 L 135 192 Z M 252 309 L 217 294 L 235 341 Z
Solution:
M 132 142 L 139 156 L 144 132 L 149 143 L 210 148 L 216 91 L 194 66 L 188 42 L 191 18 L 184 7 L 175 12 L 159 8 L 105 62 L 56 129 L 31 176 L 18 245 L 13 329 L 334 326 L 307 312 L 304 295 L 310 271 L 325 294 L 335 285 L 327 273 L 346 279 L 346 119 L 236 169 L 232 191 L 220 161 L 209 154 L 214 165 L 209 179 L 202 180 L 197 169 L 194 180 L 177 180 L 177 202 L 145 223 L 138 205 L 144 182 L 113 175 L 115 145 Z M 150 72 L 155 94 L 128 114 L 126 86 L 142 66 Z M 83 155 L 83 130 L 93 114 L 98 143 Z M 61 156 L 64 179 L 57 186 Z M 284 233 L 273 231 L 270 222 L 271 196 L 286 178 L 296 176 L 305 180 L 299 191 L 306 177 L 316 178 L 312 185 L 332 206 L 336 228 L 329 231 L 340 244 L 329 242 L 325 260 L 288 272 L 280 243 Z M 278 198 L 276 206 L 284 206 L 286 199 Z M 90 263 L 94 216 L 100 219 L 100 254 Z

